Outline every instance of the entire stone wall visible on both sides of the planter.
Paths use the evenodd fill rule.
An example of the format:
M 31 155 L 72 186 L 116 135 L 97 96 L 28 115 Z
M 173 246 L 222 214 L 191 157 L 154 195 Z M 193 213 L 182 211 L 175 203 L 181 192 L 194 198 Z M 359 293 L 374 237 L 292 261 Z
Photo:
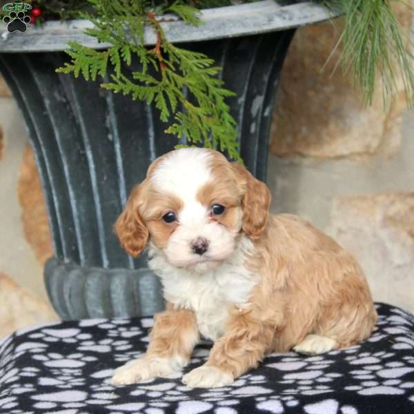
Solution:
M 413 16 L 403 6 L 399 19 L 408 34 Z M 335 55 L 322 70 L 336 40 L 321 23 L 299 28 L 290 46 L 270 138 L 272 211 L 335 237 L 362 264 L 376 301 L 414 312 L 414 112 L 403 92 L 384 110 L 380 85 L 364 108 L 351 78 L 333 72 Z M 2 337 L 57 315 L 43 284 L 53 250 L 39 175 L 1 79 L 0 128 Z

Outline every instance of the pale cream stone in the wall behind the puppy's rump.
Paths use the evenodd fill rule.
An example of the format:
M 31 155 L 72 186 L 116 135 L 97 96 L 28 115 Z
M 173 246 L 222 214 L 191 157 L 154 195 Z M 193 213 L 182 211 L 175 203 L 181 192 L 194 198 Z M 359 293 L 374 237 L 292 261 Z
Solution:
M 413 311 L 414 192 L 337 197 L 332 223 L 361 260 L 375 299 Z

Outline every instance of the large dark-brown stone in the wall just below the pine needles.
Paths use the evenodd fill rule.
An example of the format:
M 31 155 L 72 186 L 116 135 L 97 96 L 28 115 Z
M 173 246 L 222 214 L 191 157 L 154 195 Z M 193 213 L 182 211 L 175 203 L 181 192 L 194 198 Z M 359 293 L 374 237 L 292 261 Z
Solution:
M 402 3 L 394 4 L 408 34 L 411 15 Z M 400 94 L 384 110 L 382 81 L 377 77 L 373 103 L 365 108 L 350 72 L 344 75 L 337 67 L 342 47 L 335 45 L 341 27 L 342 21 L 337 19 L 335 26 L 327 22 L 297 30 L 277 95 L 270 142 L 274 155 L 362 159 L 392 157 L 400 148 L 406 107 L 402 81 L 398 83 Z

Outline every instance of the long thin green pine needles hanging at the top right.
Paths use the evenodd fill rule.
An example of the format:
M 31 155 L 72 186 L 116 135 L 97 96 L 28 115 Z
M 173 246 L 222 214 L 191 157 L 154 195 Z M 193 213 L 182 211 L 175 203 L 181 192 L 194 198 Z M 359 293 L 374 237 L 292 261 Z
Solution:
M 404 0 L 394 0 L 404 3 Z M 388 0 L 323 0 L 328 8 L 344 11 L 345 26 L 338 41 L 343 45 L 342 68 L 359 83 L 366 105 L 371 105 L 377 75 L 382 77 L 382 97 L 388 106 L 401 77 L 408 107 L 414 104 L 412 45 L 403 38 L 400 23 Z M 336 46 L 335 46 L 336 47 Z

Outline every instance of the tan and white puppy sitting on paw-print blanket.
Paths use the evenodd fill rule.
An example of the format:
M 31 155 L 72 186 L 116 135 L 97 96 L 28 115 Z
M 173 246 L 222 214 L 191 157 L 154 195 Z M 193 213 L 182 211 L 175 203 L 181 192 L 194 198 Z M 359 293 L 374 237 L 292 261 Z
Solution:
M 115 230 L 134 257 L 148 245 L 166 311 L 155 315 L 146 355 L 118 368 L 112 384 L 179 371 L 200 335 L 213 348 L 182 381 L 209 388 L 266 353 L 325 353 L 371 334 L 377 313 L 353 256 L 269 205 L 266 185 L 217 151 L 184 148 L 151 164 Z

